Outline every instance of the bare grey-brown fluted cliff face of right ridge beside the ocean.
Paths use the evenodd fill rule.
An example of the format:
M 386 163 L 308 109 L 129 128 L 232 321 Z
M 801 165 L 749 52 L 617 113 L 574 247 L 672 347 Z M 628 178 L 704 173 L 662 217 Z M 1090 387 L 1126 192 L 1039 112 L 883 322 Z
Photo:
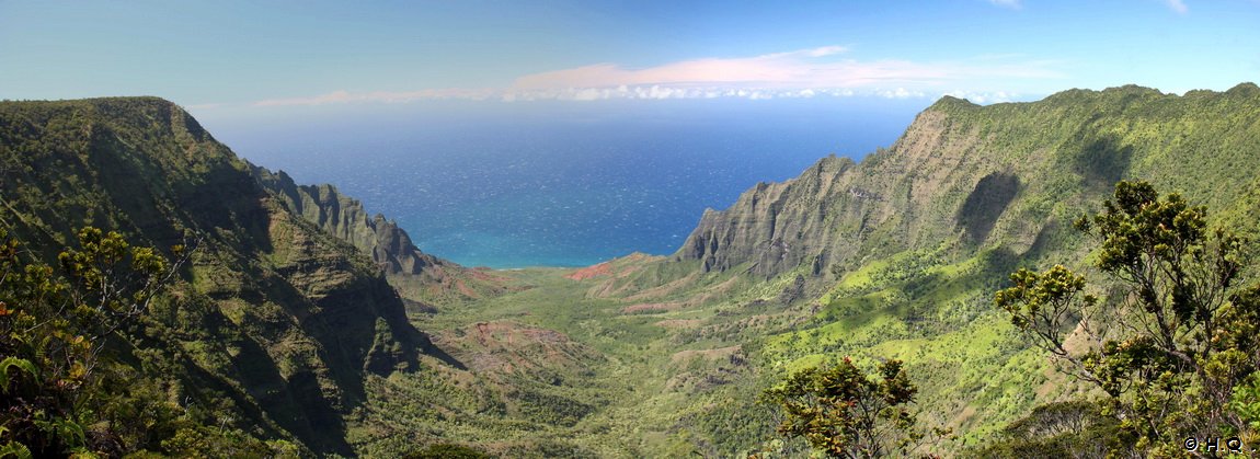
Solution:
M 820 275 L 859 252 L 888 255 L 964 231 L 983 243 L 1019 174 L 976 151 L 979 137 L 940 110 L 950 103 L 965 102 L 920 113 L 890 150 L 861 164 L 824 158 L 795 179 L 757 184 L 730 209 L 706 212 L 679 255 L 706 270 L 750 264 L 770 277 L 801 264 Z M 975 204 L 963 212 L 969 197 Z

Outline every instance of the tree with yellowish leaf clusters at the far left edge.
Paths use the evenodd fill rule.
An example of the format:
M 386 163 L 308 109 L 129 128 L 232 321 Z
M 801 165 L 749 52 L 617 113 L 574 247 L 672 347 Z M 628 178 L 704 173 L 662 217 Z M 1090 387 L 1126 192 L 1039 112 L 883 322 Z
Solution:
M 92 429 L 102 352 L 186 257 L 169 262 L 91 227 L 78 242 L 58 257 L 58 276 L 0 230 L 0 455 L 120 453 L 110 433 Z

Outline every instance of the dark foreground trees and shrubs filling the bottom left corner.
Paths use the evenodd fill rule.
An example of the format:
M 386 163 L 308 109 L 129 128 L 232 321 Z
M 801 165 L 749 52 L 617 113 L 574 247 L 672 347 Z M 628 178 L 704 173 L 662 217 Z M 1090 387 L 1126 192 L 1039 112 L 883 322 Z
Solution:
M 0 456 L 296 454 L 199 422 L 121 362 L 129 329 L 186 261 L 183 247 L 171 262 L 91 227 L 78 242 L 58 271 L 0 230 Z

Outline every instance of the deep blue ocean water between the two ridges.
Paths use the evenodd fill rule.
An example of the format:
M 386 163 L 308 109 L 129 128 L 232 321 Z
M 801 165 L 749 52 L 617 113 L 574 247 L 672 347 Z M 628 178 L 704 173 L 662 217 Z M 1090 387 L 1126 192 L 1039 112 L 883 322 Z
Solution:
M 426 252 L 586 266 L 672 253 L 704 208 L 828 154 L 888 146 L 925 105 L 844 102 L 495 102 L 208 127 L 256 164 L 363 200 Z

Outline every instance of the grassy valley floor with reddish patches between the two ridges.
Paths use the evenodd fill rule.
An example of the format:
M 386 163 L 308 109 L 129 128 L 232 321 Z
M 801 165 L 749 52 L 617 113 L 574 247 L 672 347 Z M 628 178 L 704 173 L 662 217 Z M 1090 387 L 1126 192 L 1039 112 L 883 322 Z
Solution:
M 587 290 L 595 280 L 564 277 L 570 272 L 500 272 L 533 289 L 416 317 L 435 343 L 470 371 L 445 368 L 441 377 L 420 372 L 382 381 L 407 395 L 387 392 L 373 400 L 352 441 L 374 454 L 399 451 L 397 431 L 379 426 L 407 425 L 402 430 L 427 433 L 427 441 L 474 443 L 513 456 L 689 454 L 696 446 L 685 441 L 679 419 L 711 411 L 703 407 L 713 398 L 709 392 L 743 386 L 751 372 L 732 363 L 745 354 L 742 340 L 698 337 L 696 323 L 717 317 L 721 305 L 667 301 L 635 310 L 645 303 L 591 298 Z M 479 333 L 479 327 L 491 330 Z M 573 346 L 530 339 L 528 332 L 536 329 L 562 330 Z M 495 349 L 496 339 L 515 340 Z M 479 353 L 486 348 L 491 352 Z M 495 357 L 510 366 L 484 362 Z M 449 396 L 426 395 L 432 392 Z M 437 407 L 420 404 L 427 414 L 399 409 L 415 404 L 416 395 Z

